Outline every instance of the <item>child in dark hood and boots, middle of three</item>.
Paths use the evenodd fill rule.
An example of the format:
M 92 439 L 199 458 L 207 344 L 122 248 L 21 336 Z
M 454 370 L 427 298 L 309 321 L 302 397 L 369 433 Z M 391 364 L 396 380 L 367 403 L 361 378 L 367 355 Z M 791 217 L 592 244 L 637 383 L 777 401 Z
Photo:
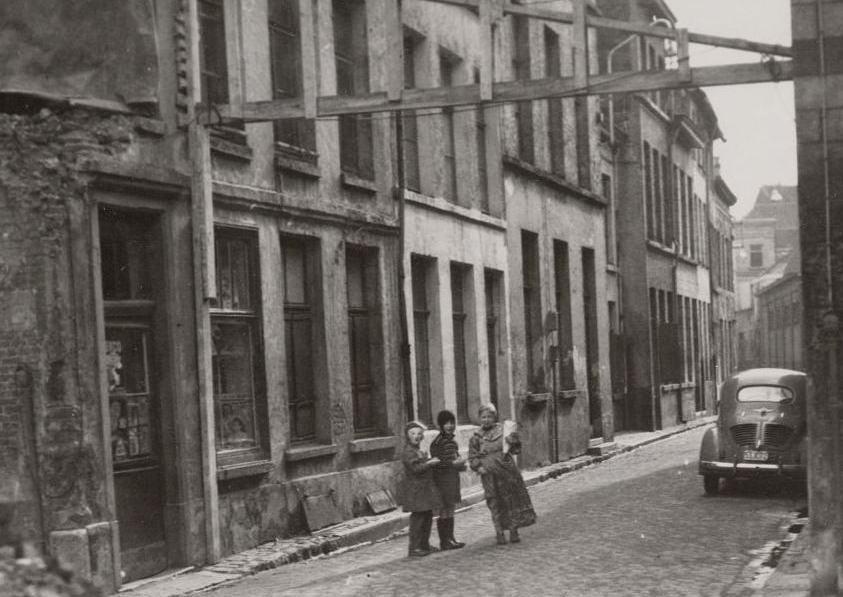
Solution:
M 449 410 L 440 411 L 436 415 L 439 425 L 439 435 L 430 444 L 430 455 L 440 460 L 433 469 L 433 481 L 439 489 L 442 508 L 436 519 L 436 530 L 439 532 L 439 545 L 442 549 L 459 549 L 465 543 L 454 538 L 454 509 L 460 503 L 460 471 L 465 470 L 465 460 L 460 458 L 460 447 L 454 438 L 457 419 Z

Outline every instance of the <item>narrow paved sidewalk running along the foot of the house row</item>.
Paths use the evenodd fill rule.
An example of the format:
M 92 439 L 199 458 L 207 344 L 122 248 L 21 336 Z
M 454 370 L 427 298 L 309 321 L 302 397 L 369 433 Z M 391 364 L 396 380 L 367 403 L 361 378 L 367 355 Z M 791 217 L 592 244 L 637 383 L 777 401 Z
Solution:
M 543 483 L 549 479 L 555 479 L 566 473 L 602 462 L 618 454 L 706 425 L 714 420 L 714 417 L 706 417 L 667 430 L 617 433 L 614 439 L 615 447 L 607 453 L 598 456 L 579 456 L 541 469 L 524 471 L 524 482 L 528 487 Z M 463 508 L 482 501 L 483 490 L 480 486 L 472 486 L 463 491 Z M 403 531 L 408 521 L 409 514 L 397 510 L 380 516 L 354 518 L 316 531 L 309 536 L 277 539 L 253 549 L 233 554 L 204 568 L 170 571 L 157 577 L 129 583 L 120 589 L 120 593 L 126 597 L 188 595 L 220 584 L 233 582 L 262 570 L 277 568 L 283 564 L 336 553 L 356 545 L 388 538 Z M 784 561 L 782 561 L 783 564 Z M 780 597 L 790 597 L 790 595 L 791 593 L 782 593 Z

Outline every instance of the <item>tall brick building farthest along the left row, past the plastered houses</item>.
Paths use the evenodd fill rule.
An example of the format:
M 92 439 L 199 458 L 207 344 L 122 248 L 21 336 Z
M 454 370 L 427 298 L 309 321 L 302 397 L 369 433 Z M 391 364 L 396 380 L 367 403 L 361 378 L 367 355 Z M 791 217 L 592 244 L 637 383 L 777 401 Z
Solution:
M 609 18 L 675 26 L 661 1 L 598 6 Z M 604 72 L 676 68 L 675 48 L 662 40 L 606 34 L 599 48 Z M 626 392 L 615 410 L 627 428 L 660 429 L 714 407 L 713 144 L 721 133 L 698 89 L 606 98 L 603 114 L 619 189 L 626 355 Z

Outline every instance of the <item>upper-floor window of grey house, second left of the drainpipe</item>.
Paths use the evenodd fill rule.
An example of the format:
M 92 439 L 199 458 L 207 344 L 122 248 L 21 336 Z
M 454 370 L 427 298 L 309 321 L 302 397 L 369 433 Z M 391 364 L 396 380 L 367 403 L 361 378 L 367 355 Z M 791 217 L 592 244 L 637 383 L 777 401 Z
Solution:
M 297 0 L 269 1 L 269 55 L 272 67 L 272 92 L 276 99 L 302 94 L 301 40 Z M 299 157 L 315 158 L 316 125 L 306 118 L 274 121 L 275 141 L 298 152 Z

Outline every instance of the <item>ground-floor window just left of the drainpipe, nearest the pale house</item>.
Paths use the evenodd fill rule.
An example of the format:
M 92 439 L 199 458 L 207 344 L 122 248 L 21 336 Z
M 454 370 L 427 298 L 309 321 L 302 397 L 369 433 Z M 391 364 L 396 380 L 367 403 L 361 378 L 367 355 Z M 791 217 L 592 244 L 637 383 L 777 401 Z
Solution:
M 378 431 L 383 421 L 380 400 L 383 390 L 378 383 L 382 374 L 383 338 L 377 249 L 348 245 L 345 267 L 354 431 L 368 434 Z

